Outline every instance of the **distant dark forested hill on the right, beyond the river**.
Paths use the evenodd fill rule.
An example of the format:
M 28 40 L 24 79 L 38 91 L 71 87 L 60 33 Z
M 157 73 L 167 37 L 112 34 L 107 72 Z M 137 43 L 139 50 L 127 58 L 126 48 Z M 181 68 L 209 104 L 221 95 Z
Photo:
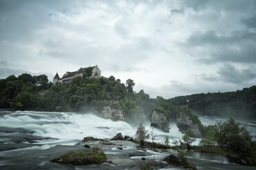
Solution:
M 256 86 L 227 93 L 200 93 L 169 99 L 175 106 L 186 105 L 199 114 L 209 116 L 256 119 Z

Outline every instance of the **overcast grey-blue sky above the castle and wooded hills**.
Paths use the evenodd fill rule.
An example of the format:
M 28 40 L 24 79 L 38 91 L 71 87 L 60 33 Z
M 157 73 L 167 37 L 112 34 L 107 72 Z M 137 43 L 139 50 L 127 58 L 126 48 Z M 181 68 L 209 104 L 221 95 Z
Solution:
M 98 65 L 171 98 L 256 83 L 255 0 L 0 0 L 0 78 Z

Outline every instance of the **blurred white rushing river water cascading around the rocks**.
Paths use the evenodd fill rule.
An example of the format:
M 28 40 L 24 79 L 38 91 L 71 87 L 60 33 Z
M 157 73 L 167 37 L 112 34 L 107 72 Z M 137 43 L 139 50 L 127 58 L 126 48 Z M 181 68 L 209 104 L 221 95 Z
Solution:
M 200 117 L 205 125 L 213 125 L 217 119 Z M 251 134 L 255 135 L 255 121 L 239 121 L 247 125 Z M 175 124 L 170 124 L 169 133 L 153 129 L 157 134 L 156 141 L 162 142 L 164 136 L 180 139 L 182 134 Z M 150 130 L 149 124 L 146 128 Z M 118 132 L 134 136 L 136 127 L 131 127 L 123 121 L 102 119 L 94 114 L 74 112 L 11 112 L 0 111 L 0 169 L 79 169 L 67 165 L 56 165 L 49 162 L 49 157 L 74 149 L 72 145 L 81 142 L 85 136 L 96 138 L 112 138 Z M 199 140 L 198 140 L 199 141 Z M 126 146 L 127 145 L 127 146 Z M 156 152 L 149 149 L 138 150 L 134 145 L 123 144 L 131 160 L 153 158 L 162 160 L 169 151 Z M 107 150 L 109 153 L 120 152 L 118 149 Z M 189 160 L 199 169 L 253 169 L 242 165 L 231 164 L 223 156 L 215 154 L 189 154 Z M 127 162 L 126 162 L 127 163 Z M 19 169 L 18 168 L 18 169 Z M 88 167 L 87 167 L 88 168 Z M 98 167 L 90 167 L 98 169 Z M 138 167 L 101 167 L 100 169 L 138 169 Z M 180 169 L 180 167 L 165 167 L 164 169 Z

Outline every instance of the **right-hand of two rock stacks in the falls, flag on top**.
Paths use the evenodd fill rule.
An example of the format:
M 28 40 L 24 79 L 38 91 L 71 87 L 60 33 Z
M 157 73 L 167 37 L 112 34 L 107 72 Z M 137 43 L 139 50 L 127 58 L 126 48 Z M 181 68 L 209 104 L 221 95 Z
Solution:
M 180 117 L 178 117 L 176 125 L 182 133 L 185 133 L 186 130 L 190 129 L 195 138 L 202 137 L 202 133 L 200 132 L 198 125 L 193 123 L 191 117 L 189 117 L 184 111 L 180 112 Z

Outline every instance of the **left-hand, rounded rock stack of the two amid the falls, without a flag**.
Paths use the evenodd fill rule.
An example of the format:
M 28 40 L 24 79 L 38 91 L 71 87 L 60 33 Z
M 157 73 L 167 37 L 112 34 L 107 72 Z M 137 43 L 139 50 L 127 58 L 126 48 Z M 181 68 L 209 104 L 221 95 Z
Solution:
M 157 127 L 163 132 L 169 132 L 169 121 L 163 113 L 153 110 L 149 119 L 151 121 L 151 126 Z

